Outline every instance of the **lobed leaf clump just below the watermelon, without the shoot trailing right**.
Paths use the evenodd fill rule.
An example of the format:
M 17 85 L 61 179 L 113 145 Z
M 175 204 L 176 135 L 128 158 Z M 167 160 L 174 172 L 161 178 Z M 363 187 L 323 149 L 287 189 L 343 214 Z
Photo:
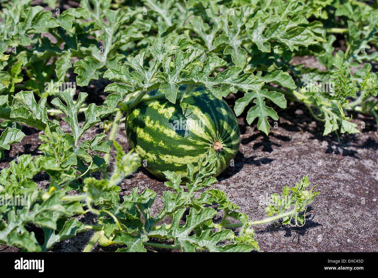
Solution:
M 126 219 L 119 221 L 119 229 L 117 229 L 118 225 L 113 218 L 101 220 L 100 222 L 104 223 L 105 233 L 100 243 L 103 242 L 104 245 L 117 243 L 126 246 L 118 251 L 146 252 L 146 248 L 144 248 L 145 245 L 148 246 L 146 242 L 149 238 L 157 237 L 174 240 L 175 248 L 181 248 L 184 252 L 194 252 L 195 249 L 211 252 L 258 250 L 257 242 L 253 240 L 251 233 L 248 234 L 248 240 L 246 240 L 247 236 L 244 236 L 242 241 L 234 235 L 232 230 L 220 227 L 218 231 L 212 231 L 215 227 L 213 218 L 218 212 L 214 208 L 203 207 L 203 205 L 218 203 L 218 210 L 232 210 L 234 214 L 237 214 L 234 210 L 239 208 L 230 202 L 224 192 L 218 189 L 208 189 L 201 194 L 200 199 L 194 196 L 195 191 L 217 182 L 214 177 L 211 177 L 215 170 L 214 162 L 212 157 L 208 157 L 206 161 L 198 160 L 200 169 L 195 177 L 191 170 L 194 169 L 194 165 L 188 163 L 188 170 L 191 173 L 189 174 L 190 182 L 182 187 L 180 186 L 181 176 L 166 171 L 164 174 L 166 174 L 168 182 L 165 185 L 174 191 L 164 192 L 163 209 L 155 217 L 151 216 L 150 209 L 156 200 L 156 193 L 145 189 L 138 194 L 138 188 L 133 188 L 133 192 L 124 197 L 124 202 L 121 205 L 114 203 L 107 207 L 107 210 L 117 218 L 123 215 L 126 216 Z M 185 187 L 187 191 L 184 190 Z M 180 224 L 186 207 L 189 207 L 189 212 L 185 216 L 185 224 Z M 141 216 L 143 216 L 144 222 L 141 220 Z M 229 214 L 225 217 L 227 216 L 233 217 Z M 171 219 L 171 224 L 156 226 L 166 217 Z M 225 241 L 229 241 L 231 244 L 226 244 Z M 169 246 L 166 247 L 169 248 Z

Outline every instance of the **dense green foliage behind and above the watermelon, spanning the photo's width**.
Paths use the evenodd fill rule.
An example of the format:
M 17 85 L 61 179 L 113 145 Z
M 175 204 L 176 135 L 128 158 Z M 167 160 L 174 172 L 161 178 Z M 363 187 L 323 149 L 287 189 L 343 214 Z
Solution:
M 350 76 L 361 63 L 378 61 L 371 51 L 378 47 L 378 13 L 365 2 L 146 0 L 127 6 L 85 0 L 79 8 L 59 10 L 56 17 L 30 3 L 2 4 L 0 82 L 8 101 L 17 87 L 41 98 L 56 95 L 59 90 L 46 84 L 67 82 L 66 74 L 73 70 L 79 86 L 105 78 L 115 81 L 106 92 L 131 96 L 159 88 L 172 103 L 182 97 L 177 94 L 182 84 L 202 85 L 218 98 L 240 90 L 245 96 L 235 113 L 249 107 L 248 123 L 257 118 L 257 128 L 266 134 L 269 118 L 277 119 L 275 107 L 286 107 L 284 95 L 317 109 L 324 135 L 339 129 L 357 132 L 344 111 L 377 115 L 372 101 L 376 88 L 371 87 L 370 97 L 360 98 L 363 81 Z M 343 34 L 345 52 L 332 54 L 332 33 Z M 316 57 L 327 70 L 308 74 L 310 68 L 291 64 L 293 57 L 304 55 Z M 20 85 L 25 75 L 28 80 Z M 362 74 L 357 70 L 355 75 Z M 336 92 L 305 92 L 305 82 L 335 82 Z M 264 83 L 270 84 L 266 90 Z M 103 116 L 103 111 L 97 113 Z M 77 126 L 74 130 L 81 133 Z

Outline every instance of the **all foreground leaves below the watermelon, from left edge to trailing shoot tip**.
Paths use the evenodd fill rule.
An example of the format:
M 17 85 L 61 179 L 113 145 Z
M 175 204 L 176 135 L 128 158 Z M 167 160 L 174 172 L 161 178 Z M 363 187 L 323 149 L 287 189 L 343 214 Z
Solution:
M 0 201 L 6 202 L 0 206 L 0 242 L 29 252 L 47 251 L 57 242 L 91 228 L 99 230 L 95 236 L 101 245 L 122 245 L 117 250 L 119 252 L 146 252 L 148 246 L 180 248 L 183 252 L 249 252 L 259 250 L 251 225 L 268 223 L 282 217 L 287 222 L 289 215 L 294 215 L 302 224 L 303 217 L 299 213 L 318 194 L 312 193 L 312 189 L 304 190 L 309 184 L 306 176 L 295 187 L 285 187 L 285 201 L 277 199 L 278 195 L 272 195 L 273 204 L 267 208 L 270 217 L 262 221 L 249 221 L 246 214 L 237 211 L 239 207 L 232 203 L 225 192 L 215 188 L 206 189 L 217 182 L 211 176 L 215 171 L 215 157 L 209 156 L 205 160 L 198 160 L 199 171 L 196 175 L 193 172 L 195 166 L 187 164 L 189 182 L 186 185 L 180 185 L 180 175 L 165 172 L 168 180 L 165 185 L 171 191 L 164 192 L 164 206 L 160 213 L 152 216 L 150 210 L 156 201 L 156 193 L 148 188 L 141 193 L 138 193 L 137 187 L 133 188 L 132 193 L 124 196 L 121 202 L 118 183 L 136 171 L 140 166 L 140 158 L 133 152 L 125 154 L 116 143 L 115 147 L 117 155 L 113 174 L 108 179 L 85 178 L 81 185 L 82 193 L 74 195 L 59 190 L 56 181 L 61 177 L 61 172 L 57 171 L 61 166 L 57 166 L 51 156 L 39 155 L 33 158 L 31 155 L 22 155 L 17 164 L 12 161 L 10 168 L 0 172 Z M 33 181 L 34 175 L 42 171 L 51 177 L 46 192 L 37 188 Z M 201 189 L 205 190 L 196 197 L 194 193 Z M 288 197 L 288 190 L 294 193 L 291 197 Z M 26 206 L 24 203 L 15 205 L 9 201 L 9 196 L 19 195 L 25 195 L 25 200 L 28 200 Z M 292 205 L 294 210 L 290 211 Z M 88 208 L 86 211 L 83 208 L 85 206 Z M 84 225 L 73 217 L 88 212 L 98 215 L 98 225 Z M 219 214 L 222 220 L 215 222 L 215 216 Z M 167 218 L 170 224 L 159 225 L 160 221 Z M 36 240 L 33 231 L 27 229 L 31 224 L 43 229 L 42 243 Z M 237 233 L 231 230 L 237 227 L 240 227 Z M 160 239 L 161 243 L 151 242 L 154 238 Z M 170 244 L 170 241 L 174 244 Z M 91 241 L 85 250 L 90 250 L 93 244 Z

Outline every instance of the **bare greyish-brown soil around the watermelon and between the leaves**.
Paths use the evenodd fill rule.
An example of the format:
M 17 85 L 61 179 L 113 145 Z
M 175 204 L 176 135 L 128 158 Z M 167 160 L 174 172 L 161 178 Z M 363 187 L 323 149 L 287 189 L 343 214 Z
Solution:
M 232 97 L 228 101 L 232 106 Z M 238 118 L 242 135 L 235 165 L 218 177 L 219 182 L 214 187 L 225 191 L 232 202 L 239 205 L 240 211 L 251 220 L 264 218 L 270 194 L 282 192 L 285 185 L 293 186 L 307 174 L 320 192 L 307 209 L 303 227 L 280 223 L 255 226 L 255 239 L 261 251 L 378 251 L 377 127 L 373 118 L 364 115 L 353 115 L 353 121 L 358 124 L 361 134 L 343 134 L 338 141 L 336 136 L 323 137 L 322 124 L 316 123 L 307 107 L 302 105 L 291 105 L 279 112 L 279 120 L 271 121 L 273 128 L 268 136 L 257 130 L 256 123 L 249 126 L 243 115 Z M 8 167 L 18 155 L 41 154 L 38 130 L 23 127 L 22 131 L 27 136 L 13 144 L 10 151 L 5 151 L 1 169 Z M 88 138 L 99 132 L 99 126 L 92 127 Z M 121 125 L 116 141 L 124 151 L 129 151 L 124 125 Z M 35 181 L 45 187 L 48 175 L 41 173 Z M 143 168 L 122 181 L 120 194 L 130 194 L 135 186 L 139 192 L 148 187 L 158 194 L 158 202 L 152 208 L 152 214 L 157 214 L 163 206 L 160 197 L 168 188 Z M 96 222 L 96 216 L 92 214 L 79 219 L 85 224 Z M 81 233 L 59 242 L 52 251 L 82 251 L 92 235 L 92 231 Z M 93 252 L 110 252 L 116 248 L 95 245 Z M 0 251 L 19 250 L 0 245 Z

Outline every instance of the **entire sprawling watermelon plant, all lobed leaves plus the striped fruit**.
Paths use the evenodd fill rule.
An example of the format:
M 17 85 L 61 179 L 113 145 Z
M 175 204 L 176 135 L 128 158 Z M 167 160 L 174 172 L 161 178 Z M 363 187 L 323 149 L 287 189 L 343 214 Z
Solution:
M 22 143 L 25 125 L 41 142 L 38 155 L 20 155 L 0 171 L 0 243 L 46 251 L 90 229 L 96 232 L 85 251 L 97 241 L 119 251 L 258 250 L 251 225 L 304 225 L 318 193 L 305 190 L 305 176 L 281 197 L 272 195 L 268 218 L 250 221 L 223 191 L 205 189 L 238 151 L 235 115 L 256 121 L 266 135 L 288 103 L 304 104 L 324 135 L 359 132 L 353 112 L 378 122 L 375 2 L 61 4 L 0 3 L 1 159 Z M 321 67 L 293 62 L 303 56 Z M 233 111 L 227 96 L 236 99 Z M 135 149 L 128 154 L 115 141 L 123 121 Z M 105 133 L 88 138 L 95 126 Z M 118 184 L 139 163 L 171 189 L 154 217 L 152 190 L 119 197 Z M 46 188 L 33 180 L 41 172 Z M 28 201 L 14 203 L 15 196 Z M 212 204 L 223 213 L 220 222 Z M 98 223 L 74 217 L 86 213 Z M 166 217 L 171 224 L 161 225 Z M 43 230 L 42 241 L 33 227 Z

